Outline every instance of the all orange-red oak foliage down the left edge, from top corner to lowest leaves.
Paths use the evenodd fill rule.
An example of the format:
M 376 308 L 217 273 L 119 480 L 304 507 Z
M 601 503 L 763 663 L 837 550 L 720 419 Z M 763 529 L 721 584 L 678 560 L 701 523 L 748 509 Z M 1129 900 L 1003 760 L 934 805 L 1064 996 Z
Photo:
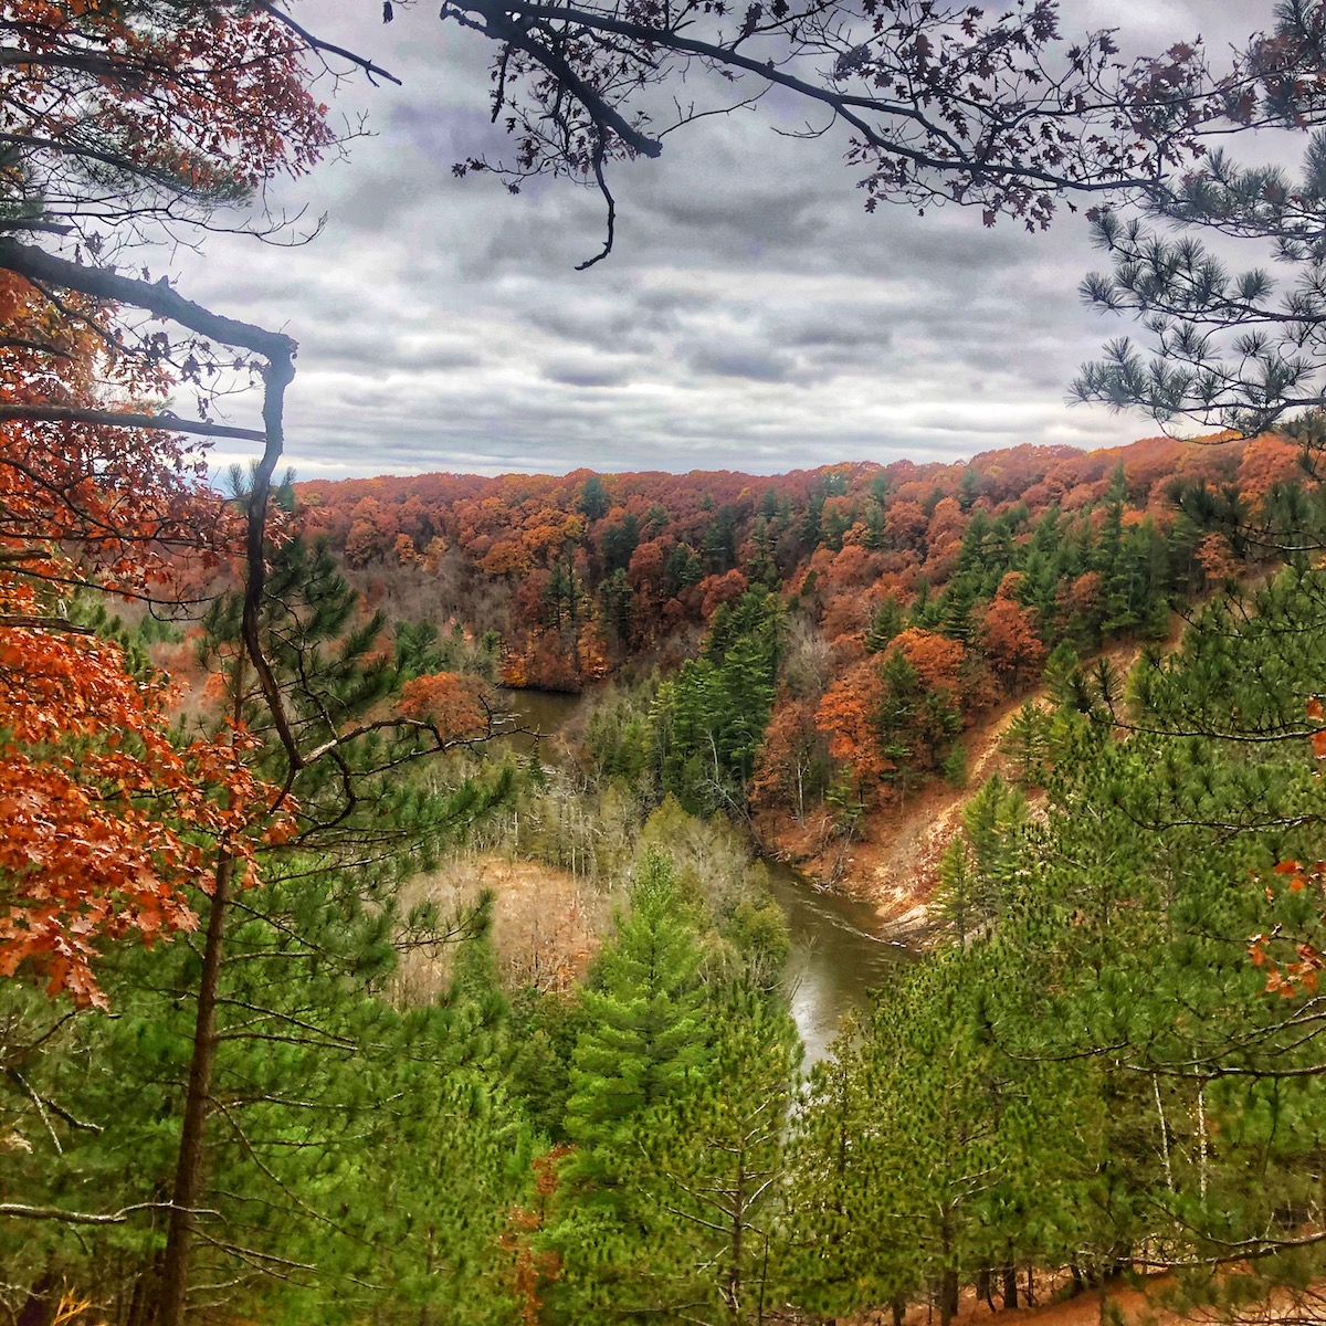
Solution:
M 24 56 L 0 66 L 5 129 L 23 145 L 11 183 L 27 176 L 53 215 L 77 213 L 89 196 L 81 152 L 102 149 L 97 239 L 129 239 L 113 227 L 133 225 L 143 180 L 147 207 L 174 216 L 174 182 L 184 213 L 190 191 L 233 198 L 305 170 L 330 142 L 326 107 L 304 86 L 302 42 L 274 15 L 175 5 L 155 21 L 164 13 L 5 5 L 11 53 Z M 119 349 L 114 309 L 73 294 L 56 304 L 7 272 L 0 328 L 5 406 L 159 408 L 174 386 L 154 354 Z M 244 766 L 248 736 L 182 748 L 164 680 L 65 615 L 80 587 L 170 598 L 216 566 L 232 534 L 202 452 L 178 438 L 0 424 L 0 975 L 29 965 L 52 992 L 102 1002 L 99 943 L 196 924 L 186 887 L 207 888 L 220 861 L 243 878 L 253 839 L 280 835 L 273 789 Z

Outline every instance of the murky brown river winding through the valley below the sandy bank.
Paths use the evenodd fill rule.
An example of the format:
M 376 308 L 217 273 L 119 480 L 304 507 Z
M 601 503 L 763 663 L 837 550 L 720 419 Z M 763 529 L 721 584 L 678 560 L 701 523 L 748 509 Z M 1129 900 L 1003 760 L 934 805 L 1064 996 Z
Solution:
M 501 700 L 517 724 L 550 736 L 570 721 L 582 696 L 503 691 Z M 529 737 L 512 740 L 521 749 L 533 745 Z M 764 863 L 769 890 L 788 920 L 788 996 L 809 1067 L 827 1057 L 843 1016 L 866 1005 L 867 991 L 892 977 L 907 960 L 907 949 L 880 935 L 870 903 L 823 892 L 781 862 L 766 858 Z

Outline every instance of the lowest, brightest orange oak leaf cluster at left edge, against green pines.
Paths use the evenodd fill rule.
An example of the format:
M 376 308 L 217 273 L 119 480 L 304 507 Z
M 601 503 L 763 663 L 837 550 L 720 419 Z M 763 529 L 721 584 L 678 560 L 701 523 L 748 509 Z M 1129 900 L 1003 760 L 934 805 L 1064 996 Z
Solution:
M 101 1002 L 98 941 L 192 928 L 186 886 L 217 843 L 252 858 L 267 789 L 240 735 L 180 749 L 164 683 L 105 640 L 0 627 L 0 976 Z

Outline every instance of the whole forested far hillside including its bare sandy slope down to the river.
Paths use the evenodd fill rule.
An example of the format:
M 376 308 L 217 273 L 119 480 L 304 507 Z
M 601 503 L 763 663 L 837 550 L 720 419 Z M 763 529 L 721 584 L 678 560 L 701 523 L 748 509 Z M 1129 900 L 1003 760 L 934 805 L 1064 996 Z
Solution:
M 1254 572 L 1227 513 L 1281 500 L 1298 460 L 1272 436 L 1150 438 L 297 497 L 304 532 L 407 623 L 398 652 L 427 639 L 431 667 L 597 692 L 572 740 L 590 782 L 748 819 L 770 853 L 914 924 L 964 789 L 1000 766 L 1046 668 L 1062 690 L 1082 659 L 1135 658 L 1174 605 Z

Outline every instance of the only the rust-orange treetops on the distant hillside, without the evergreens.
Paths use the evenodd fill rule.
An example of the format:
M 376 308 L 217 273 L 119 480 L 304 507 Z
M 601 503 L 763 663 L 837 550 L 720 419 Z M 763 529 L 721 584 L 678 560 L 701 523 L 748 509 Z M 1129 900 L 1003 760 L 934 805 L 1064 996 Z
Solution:
M 342 542 L 366 518 L 365 499 L 396 512 L 400 532 L 410 533 L 415 546 L 415 529 L 431 530 L 450 548 L 444 566 L 440 558 L 431 565 L 442 566 L 448 590 L 459 581 L 457 593 L 473 595 L 467 621 L 501 634 L 501 675 L 514 686 L 579 690 L 610 663 L 629 666 L 646 651 L 648 663 L 667 667 L 693 654 L 700 627 L 721 603 L 737 598 L 748 582 L 776 575 L 796 605 L 789 615 L 809 625 L 821 648 L 827 642 L 825 668 L 837 680 L 818 701 L 784 696 L 776 703 L 761 757 L 766 762 L 756 772 L 760 800 L 789 794 L 794 752 L 808 749 L 808 721 L 817 740 L 831 743 L 834 758 L 853 765 L 863 786 L 894 772 L 870 731 L 878 727 L 882 683 L 880 659 L 863 656 L 866 633 L 890 595 L 904 607 L 914 599 L 922 575 L 931 594 L 943 591 L 972 512 L 997 518 L 1016 507 L 1034 522 L 1059 504 L 1066 508 L 1062 537 L 1086 540 L 1099 533 L 1102 504 L 1122 465 L 1122 522 L 1132 528 L 1150 517 L 1163 536 L 1174 513 L 1167 496 L 1174 477 L 1228 481 L 1241 461 L 1252 476 L 1281 459 L 1266 444 L 1191 447 L 1152 438 L 1097 452 L 1021 446 L 969 463 L 833 465 L 772 479 L 729 472 L 605 475 L 597 476 L 590 504 L 583 501 L 587 471 L 320 480 L 301 485 L 300 495 L 317 503 L 309 520 Z M 621 540 L 627 521 L 639 536 L 629 557 Z M 1024 524 L 1009 537 L 1016 542 L 1030 533 Z M 1199 558 L 1211 561 L 1211 550 L 1199 550 Z M 610 583 L 609 565 L 623 561 L 625 583 Z M 575 583 L 568 590 L 572 569 Z M 1049 587 L 1036 586 L 1038 594 Z M 916 670 L 920 690 L 945 692 L 951 701 L 944 731 L 936 729 L 930 743 L 931 761 L 952 739 L 949 711 L 959 701 L 969 720 L 994 703 L 1001 688 L 1030 683 L 1044 664 L 1042 623 L 1021 603 L 1026 591 L 1020 573 L 1006 574 L 993 601 L 973 607 L 977 634 L 969 648 L 918 629 L 894 640 L 892 648 Z M 1090 642 L 1102 630 L 1103 598 L 1099 574 L 1065 578 L 1057 603 L 1045 606 L 1046 619 L 1073 619 Z M 464 615 L 448 599 L 447 613 L 456 611 Z M 613 642 L 611 651 L 603 640 Z M 918 769 L 927 766 L 927 740 L 915 740 Z

